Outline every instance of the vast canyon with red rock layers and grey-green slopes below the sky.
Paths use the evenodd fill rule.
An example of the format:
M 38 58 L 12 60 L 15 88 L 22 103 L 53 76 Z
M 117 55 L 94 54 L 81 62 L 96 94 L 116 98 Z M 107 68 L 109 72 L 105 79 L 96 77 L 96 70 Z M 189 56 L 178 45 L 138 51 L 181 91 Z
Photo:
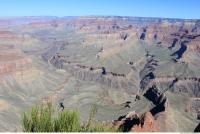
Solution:
M 193 132 L 199 67 L 200 20 L 1 18 L 0 131 L 22 131 L 23 112 L 50 100 L 83 121 L 92 104 L 96 120 L 122 126 L 131 112 L 143 120 L 124 131 Z

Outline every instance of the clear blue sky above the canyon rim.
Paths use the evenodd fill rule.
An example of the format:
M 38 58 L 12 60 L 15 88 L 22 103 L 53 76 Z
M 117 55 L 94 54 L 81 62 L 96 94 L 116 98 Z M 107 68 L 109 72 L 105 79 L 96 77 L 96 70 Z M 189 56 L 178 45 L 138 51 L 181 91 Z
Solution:
M 89 15 L 200 19 L 200 0 L 0 0 L 0 17 Z

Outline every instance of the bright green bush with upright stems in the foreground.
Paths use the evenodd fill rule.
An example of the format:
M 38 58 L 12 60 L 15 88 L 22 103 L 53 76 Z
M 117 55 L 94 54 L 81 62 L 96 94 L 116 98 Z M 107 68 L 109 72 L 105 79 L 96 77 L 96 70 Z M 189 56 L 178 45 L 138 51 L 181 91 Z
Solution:
M 24 132 L 116 132 L 117 130 L 94 121 L 96 105 L 90 110 L 87 122 L 80 122 L 76 110 L 64 110 L 56 114 L 51 103 L 37 105 L 31 111 L 24 112 L 22 127 Z

